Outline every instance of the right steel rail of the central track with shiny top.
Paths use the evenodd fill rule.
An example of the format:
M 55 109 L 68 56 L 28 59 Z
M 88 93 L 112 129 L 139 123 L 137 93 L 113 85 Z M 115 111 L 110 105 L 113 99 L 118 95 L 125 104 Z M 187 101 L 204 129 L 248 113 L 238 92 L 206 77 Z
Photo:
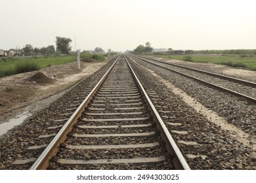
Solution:
M 182 156 L 181 151 L 179 150 L 177 144 L 173 140 L 173 137 L 171 137 L 171 134 L 167 127 L 165 126 L 163 120 L 161 119 L 160 115 L 158 114 L 158 111 L 154 107 L 152 101 L 150 100 L 150 97 L 148 97 L 148 94 L 144 90 L 142 84 L 140 83 L 139 79 L 137 78 L 135 72 L 131 68 L 131 65 L 129 64 L 129 61 L 125 58 L 127 61 L 127 64 L 129 65 L 129 68 L 131 70 L 131 73 L 133 73 L 133 76 L 135 77 L 135 80 L 137 84 L 139 85 L 140 90 L 142 91 L 146 103 L 148 103 L 148 107 L 150 108 L 151 114 L 154 117 L 155 122 L 157 122 L 157 127 L 161 131 L 161 137 L 163 138 L 163 141 L 165 141 L 165 146 L 167 148 L 167 151 L 171 156 L 173 156 L 173 164 L 175 165 L 176 169 L 182 169 L 182 170 L 190 170 L 190 167 L 188 166 L 188 163 L 186 163 L 186 160 Z

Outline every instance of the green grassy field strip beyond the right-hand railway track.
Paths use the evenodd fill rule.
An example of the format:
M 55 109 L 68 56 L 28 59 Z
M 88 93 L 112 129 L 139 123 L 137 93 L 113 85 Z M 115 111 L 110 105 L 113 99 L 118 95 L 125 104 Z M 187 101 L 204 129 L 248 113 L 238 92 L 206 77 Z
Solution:
M 183 55 L 155 55 L 161 58 L 185 60 Z M 251 71 L 256 71 L 256 57 L 248 57 L 244 54 L 238 55 L 211 55 L 211 54 L 193 54 L 189 61 L 202 63 L 215 63 L 219 65 L 228 65 L 230 67 L 243 67 Z

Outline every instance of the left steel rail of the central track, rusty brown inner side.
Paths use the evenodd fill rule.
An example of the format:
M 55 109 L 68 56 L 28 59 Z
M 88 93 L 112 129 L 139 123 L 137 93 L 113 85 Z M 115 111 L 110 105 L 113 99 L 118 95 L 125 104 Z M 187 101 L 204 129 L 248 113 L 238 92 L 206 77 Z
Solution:
M 81 116 L 81 112 L 83 112 L 84 108 L 87 107 L 87 105 L 89 104 L 89 102 L 93 98 L 93 95 L 95 95 L 96 91 L 98 90 L 98 88 L 100 87 L 100 85 L 102 84 L 102 82 L 104 81 L 106 76 L 108 76 L 108 74 L 110 73 L 110 71 L 112 70 L 112 68 L 114 67 L 114 65 L 116 64 L 116 62 L 117 62 L 117 60 L 119 59 L 120 56 L 121 55 L 119 55 L 117 57 L 116 61 L 114 61 L 114 63 L 110 67 L 110 69 L 108 69 L 108 71 L 105 73 L 105 75 L 96 84 L 95 88 L 93 88 L 93 90 L 89 93 L 89 95 L 87 95 L 85 100 L 75 110 L 74 114 L 72 114 L 72 116 L 68 119 L 66 124 L 64 124 L 63 127 L 60 129 L 60 131 L 58 131 L 58 133 L 56 134 L 54 139 L 45 148 L 45 150 L 39 156 L 39 158 L 37 158 L 35 163 L 33 163 L 32 167 L 30 167 L 30 170 L 47 169 L 50 159 L 57 152 L 58 146 L 60 146 L 60 144 L 65 141 L 66 135 L 72 130 L 73 125 L 75 124 L 75 122 L 77 122 L 77 119 Z

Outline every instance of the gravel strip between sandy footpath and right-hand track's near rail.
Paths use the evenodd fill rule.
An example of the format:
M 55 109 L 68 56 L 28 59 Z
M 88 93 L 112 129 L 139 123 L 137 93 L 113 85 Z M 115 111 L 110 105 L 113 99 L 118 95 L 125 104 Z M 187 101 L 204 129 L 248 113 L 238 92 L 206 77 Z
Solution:
M 155 71 L 164 79 L 169 80 L 177 88 L 181 88 L 181 90 L 202 103 L 202 105 L 214 110 L 219 116 L 226 118 L 230 124 L 236 125 L 246 133 L 253 135 L 252 138 L 255 138 L 256 105 L 250 105 L 245 101 L 241 101 L 238 97 L 203 86 L 192 79 L 184 78 L 166 69 L 150 65 L 150 63 L 141 61 L 139 63 Z

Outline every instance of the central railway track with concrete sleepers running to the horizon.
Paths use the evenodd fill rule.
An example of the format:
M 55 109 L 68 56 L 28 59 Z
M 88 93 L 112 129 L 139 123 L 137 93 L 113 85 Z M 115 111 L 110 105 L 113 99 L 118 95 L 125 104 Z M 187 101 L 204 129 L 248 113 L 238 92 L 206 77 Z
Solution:
M 30 169 L 190 169 L 125 56 L 77 106 Z

